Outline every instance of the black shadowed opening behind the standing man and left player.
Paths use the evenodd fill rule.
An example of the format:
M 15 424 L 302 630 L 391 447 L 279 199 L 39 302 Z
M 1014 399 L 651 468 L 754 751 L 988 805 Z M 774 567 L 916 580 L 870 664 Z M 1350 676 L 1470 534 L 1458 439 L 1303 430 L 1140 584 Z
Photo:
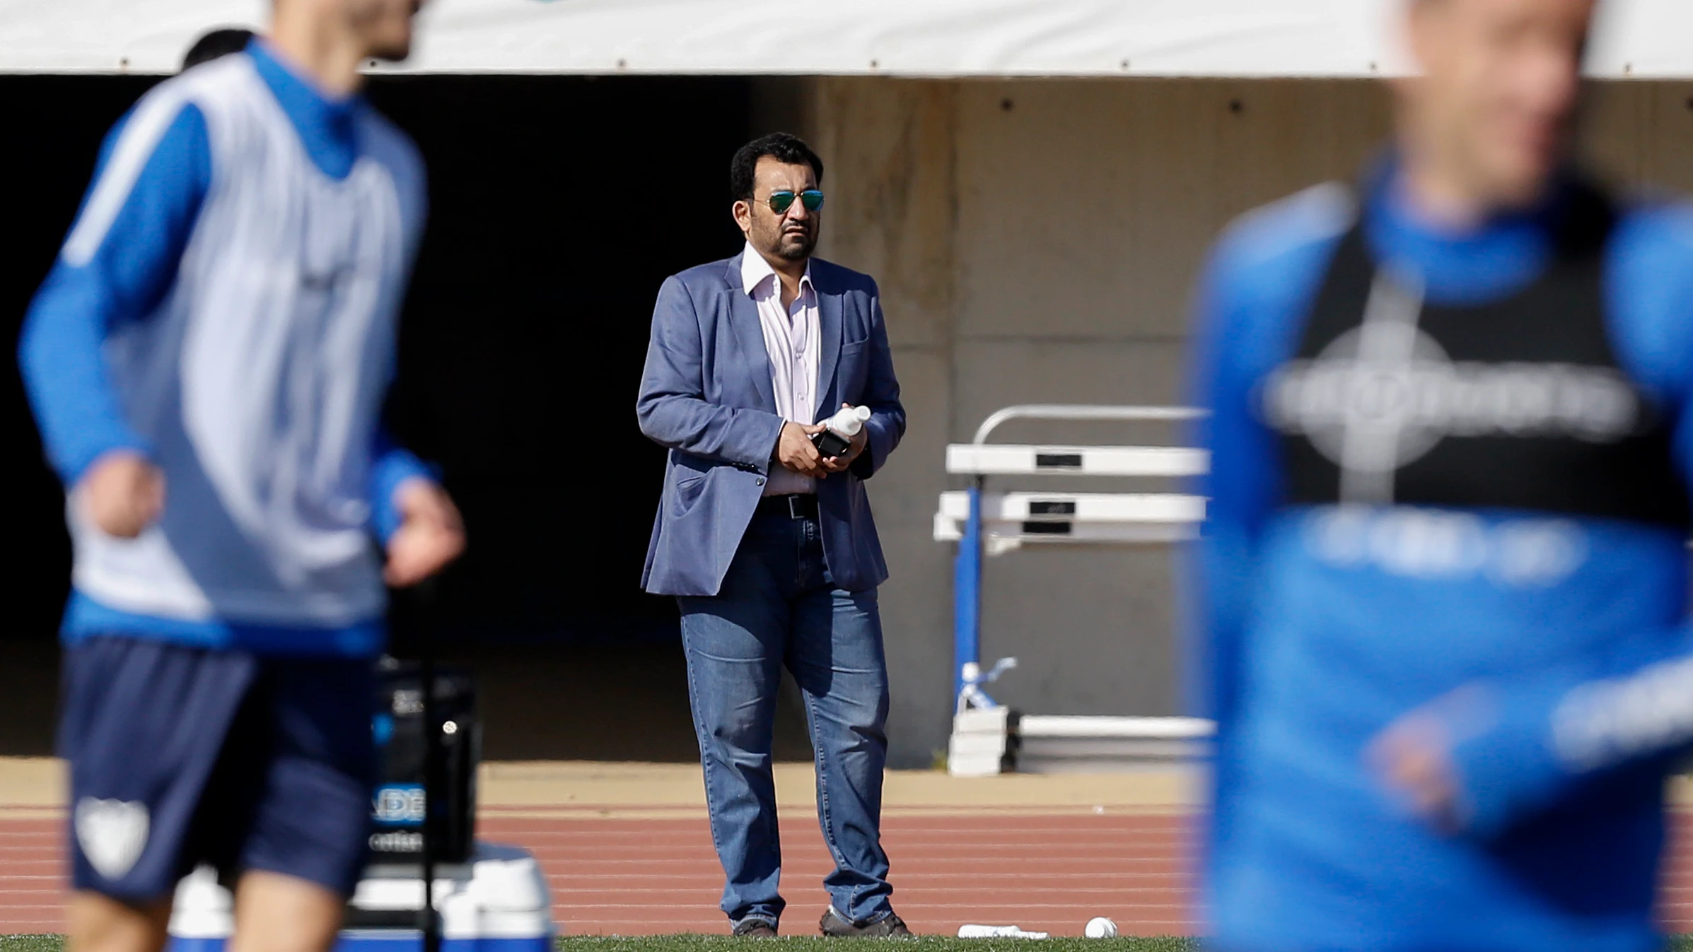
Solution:
M 8 205 L 0 340 L 52 264 L 105 130 L 156 79 L 0 78 L 30 149 Z M 430 166 L 430 230 L 401 323 L 391 418 L 440 462 L 471 548 L 428 624 L 481 673 L 489 759 L 694 761 L 676 605 L 638 590 L 664 451 L 635 424 L 652 301 L 740 245 L 726 171 L 748 137 L 740 78 L 381 78 L 371 100 Z M 10 355 L 10 347 L 5 348 Z M 69 551 L 10 357 L 0 445 L 17 506 L 0 639 L 0 754 L 47 754 Z M 418 617 L 394 616 L 403 644 Z M 789 698 L 792 693 L 787 695 Z M 777 752 L 809 759 L 797 705 Z

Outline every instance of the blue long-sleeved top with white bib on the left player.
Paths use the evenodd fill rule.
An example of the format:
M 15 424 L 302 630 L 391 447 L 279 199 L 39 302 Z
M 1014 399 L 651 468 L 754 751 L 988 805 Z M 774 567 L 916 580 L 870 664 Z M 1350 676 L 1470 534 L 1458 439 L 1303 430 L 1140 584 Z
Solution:
M 19 345 L 71 499 L 63 636 L 367 656 L 371 533 L 428 468 L 379 426 L 425 215 L 416 149 L 262 41 L 168 79 L 107 137 Z M 103 453 L 166 475 L 161 521 L 103 534 Z

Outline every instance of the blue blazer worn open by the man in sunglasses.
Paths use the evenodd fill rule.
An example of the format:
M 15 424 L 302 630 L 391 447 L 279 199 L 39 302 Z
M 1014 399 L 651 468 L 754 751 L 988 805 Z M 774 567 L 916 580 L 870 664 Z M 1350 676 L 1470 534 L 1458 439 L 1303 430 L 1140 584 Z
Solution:
M 657 595 L 716 595 L 774 462 L 770 357 L 758 308 L 742 289 L 740 255 L 670 276 L 659 289 L 635 414 L 670 450 L 642 587 Z M 870 276 L 811 259 L 818 293 L 818 419 L 843 402 L 869 406 L 869 445 L 848 472 L 818 480 L 823 555 L 848 592 L 887 580 L 863 480 L 906 433 L 906 408 Z

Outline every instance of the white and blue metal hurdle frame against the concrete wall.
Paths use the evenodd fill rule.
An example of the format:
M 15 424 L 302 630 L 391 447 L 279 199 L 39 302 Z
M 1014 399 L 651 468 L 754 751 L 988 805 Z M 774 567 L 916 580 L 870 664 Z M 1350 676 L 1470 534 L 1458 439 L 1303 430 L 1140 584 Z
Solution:
M 984 685 L 1016 668 L 1001 658 L 980 663 L 984 556 L 1028 544 L 1165 544 L 1197 538 L 1205 501 L 1180 492 L 987 492 L 987 477 L 1204 475 L 1209 457 L 1188 446 L 1058 446 L 989 443 L 1012 419 L 1182 423 L 1204 411 L 1173 406 L 1007 406 L 977 428 L 970 443 L 946 446 L 946 472 L 970 477 L 962 492 L 943 492 L 935 541 L 958 543 L 953 563 L 953 732 L 948 771 L 957 776 L 1033 771 L 1117 769 L 1122 763 L 1199 756 L 1212 725 L 1192 717 L 1019 717 Z

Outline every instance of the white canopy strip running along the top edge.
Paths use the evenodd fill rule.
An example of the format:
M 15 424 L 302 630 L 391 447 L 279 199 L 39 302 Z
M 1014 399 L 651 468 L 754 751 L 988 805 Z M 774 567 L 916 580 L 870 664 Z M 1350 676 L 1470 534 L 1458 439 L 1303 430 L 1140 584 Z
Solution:
M 433 0 L 405 73 L 1376 76 L 1402 0 Z M 169 73 L 267 0 L 0 0 L 0 73 Z M 1693 3 L 1610 0 L 1590 71 L 1693 78 Z

